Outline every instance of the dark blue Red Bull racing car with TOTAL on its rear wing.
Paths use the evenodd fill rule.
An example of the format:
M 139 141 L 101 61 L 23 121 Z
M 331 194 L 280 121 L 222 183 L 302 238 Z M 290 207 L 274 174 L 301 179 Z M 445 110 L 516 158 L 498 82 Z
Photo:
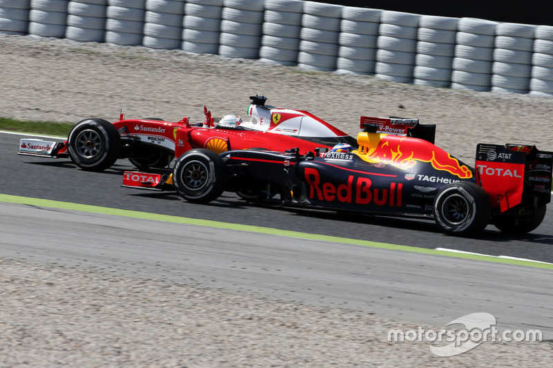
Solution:
M 521 144 L 478 144 L 471 168 L 433 144 L 435 126 L 416 119 L 362 117 L 358 148 L 338 145 L 302 154 L 193 149 L 166 174 L 125 173 L 127 186 L 164 188 L 189 202 L 223 191 L 250 201 L 332 211 L 425 217 L 451 235 L 494 224 L 527 233 L 551 200 L 553 153 Z M 144 176 L 140 176 L 144 175 Z

